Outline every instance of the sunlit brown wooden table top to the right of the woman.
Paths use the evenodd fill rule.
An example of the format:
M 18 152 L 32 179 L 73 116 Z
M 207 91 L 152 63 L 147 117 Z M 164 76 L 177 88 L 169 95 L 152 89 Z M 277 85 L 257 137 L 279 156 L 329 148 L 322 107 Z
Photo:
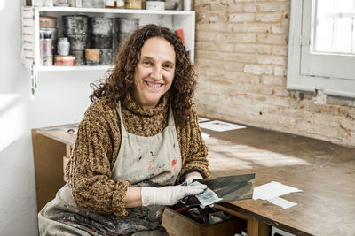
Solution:
M 281 198 L 298 205 L 282 209 L 263 200 L 223 207 L 296 235 L 355 235 L 355 149 L 255 127 L 210 136 L 212 177 L 256 173 L 256 187 L 270 181 L 303 192 Z

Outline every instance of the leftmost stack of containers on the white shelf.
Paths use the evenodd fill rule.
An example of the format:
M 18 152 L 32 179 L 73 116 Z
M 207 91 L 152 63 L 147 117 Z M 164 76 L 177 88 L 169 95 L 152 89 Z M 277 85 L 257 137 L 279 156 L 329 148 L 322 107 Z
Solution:
M 51 66 L 58 39 L 57 18 L 40 16 L 39 38 L 41 65 Z

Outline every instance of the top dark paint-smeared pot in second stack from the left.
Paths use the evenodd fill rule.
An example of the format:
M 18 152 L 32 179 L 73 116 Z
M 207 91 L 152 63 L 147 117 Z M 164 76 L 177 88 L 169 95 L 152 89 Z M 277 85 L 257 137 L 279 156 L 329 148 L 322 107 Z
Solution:
M 89 17 L 86 15 L 63 16 L 64 32 L 68 34 L 87 34 Z

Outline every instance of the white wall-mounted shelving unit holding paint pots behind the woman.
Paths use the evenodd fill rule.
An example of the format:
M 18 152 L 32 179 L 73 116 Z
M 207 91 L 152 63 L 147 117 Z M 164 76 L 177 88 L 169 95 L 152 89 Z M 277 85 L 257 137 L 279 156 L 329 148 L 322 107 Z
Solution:
M 27 12 L 27 13 L 24 13 Z M 33 65 L 24 65 L 35 72 L 58 72 L 58 71 L 93 71 L 107 70 L 113 65 L 81 65 L 81 66 L 43 66 L 40 65 L 40 41 L 39 41 L 39 17 L 57 17 L 57 27 L 59 37 L 63 34 L 62 20 L 63 15 L 84 14 L 89 17 L 124 17 L 139 19 L 139 26 L 154 23 L 170 29 L 181 28 L 184 31 L 185 47 L 189 50 L 190 58 L 194 61 L 194 32 L 195 32 L 195 13 L 194 11 L 150 11 L 150 10 L 130 10 L 130 9 L 106 9 L 106 8 L 78 8 L 78 7 L 32 7 L 25 6 L 22 9 L 22 30 L 27 34 L 29 40 L 22 42 L 22 61 L 32 58 Z M 26 21 L 26 20 L 27 21 Z M 28 28 L 28 20 L 33 20 L 32 27 Z M 29 30 L 29 31 L 28 31 Z M 32 30 L 32 31 L 31 31 Z M 30 32 L 30 33 L 28 33 Z M 33 45 L 28 47 L 28 43 Z M 28 49 L 29 48 L 29 49 Z

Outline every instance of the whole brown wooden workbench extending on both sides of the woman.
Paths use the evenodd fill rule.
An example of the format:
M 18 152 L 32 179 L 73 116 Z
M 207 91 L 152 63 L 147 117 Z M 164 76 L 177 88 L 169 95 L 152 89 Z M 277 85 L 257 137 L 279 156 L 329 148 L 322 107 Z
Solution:
M 32 131 L 37 208 L 64 185 L 62 157 L 70 154 L 70 126 Z M 263 200 L 216 204 L 248 221 L 248 236 L 269 235 L 269 225 L 296 235 L 354 235 L 355 149 L 326 141 L 247 127 L 209 134 L 212 177 L 256 173 L 256 186 L 270 181 L 303 192 L 282 198 L 298 205 L 282 209 Z

